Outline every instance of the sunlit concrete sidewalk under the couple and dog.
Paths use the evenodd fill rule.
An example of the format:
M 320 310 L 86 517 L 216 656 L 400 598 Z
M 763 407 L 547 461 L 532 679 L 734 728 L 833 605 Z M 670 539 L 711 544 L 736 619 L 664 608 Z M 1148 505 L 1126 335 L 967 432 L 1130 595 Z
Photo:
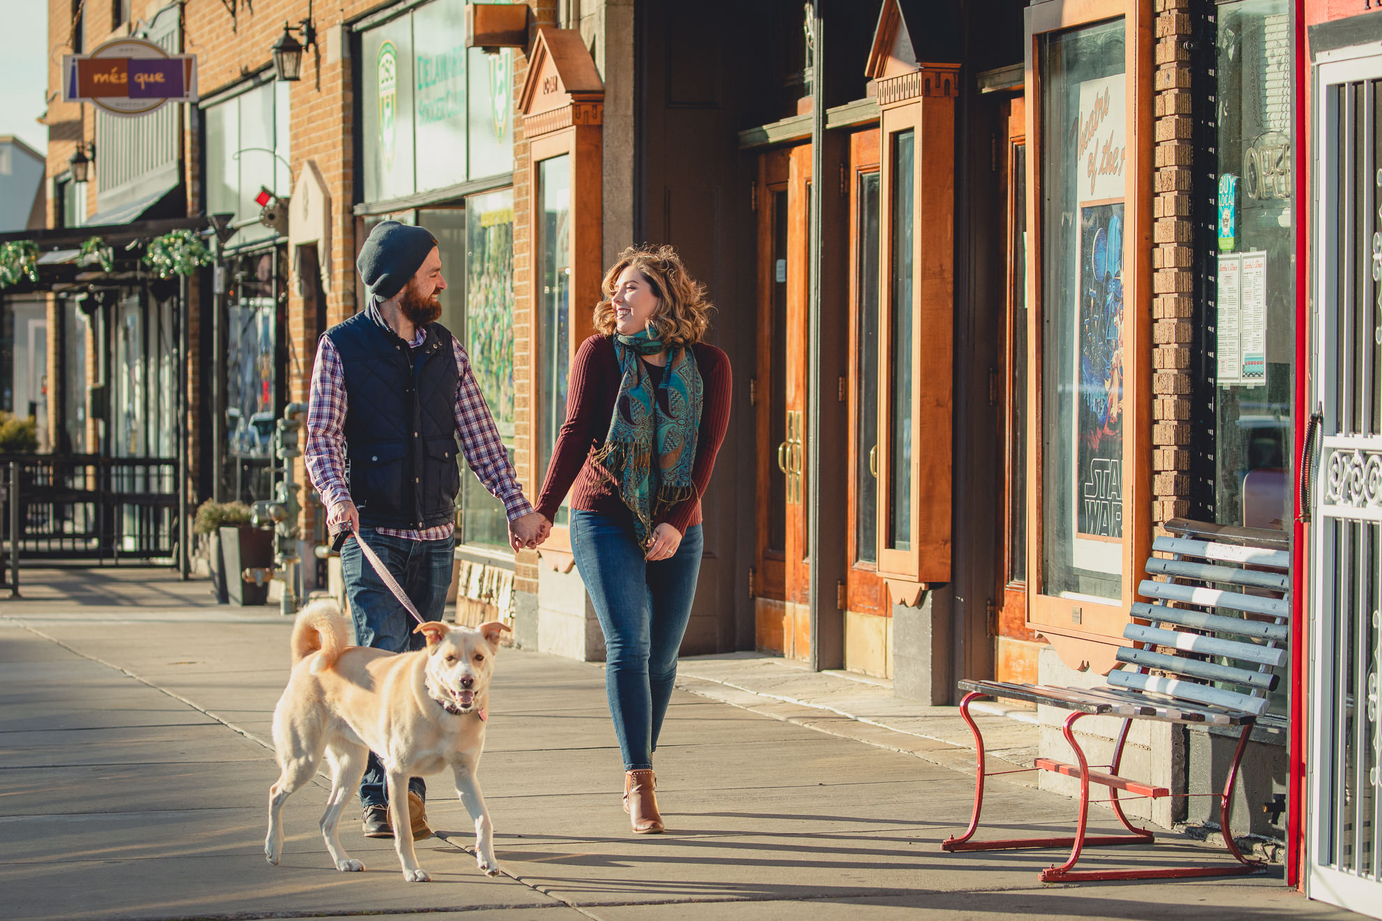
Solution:
M 289 621 L 102 579 L 142 587 L 0 602 L 4 918 L 1359 917 L 1273 875 L 1043 886 L 1038 870 L 1063 853 L 943 853 L 967 822 L 972 775 L 684 690 L 656 755 L 670 833 L 634 837 L 600 668 L 517 650 L 498 663 L 480 769 L 503 875 L 475 869 L 470 822 L 439 776 L 428 802 L 439 834 L 419 845 L 434 882 L 404 882 L 391 842 L 362 838 L 354 808 L 341 838 L 369 871 L 330 869 L 316 830 L 325 780 L 289 799 L 286 853 L 271 867 L 268 728 Z M 152 602 L 101 603 L 120 591 Z M 1072 812 L 1002 779 L 985 801 L 1002 834 L 1067 834 Z M 1093 826 L 1111 830 L 1108 813 L 1096 808 Z M 1093 849 L 1082 866 L 1220 853 L 1168 835 Z

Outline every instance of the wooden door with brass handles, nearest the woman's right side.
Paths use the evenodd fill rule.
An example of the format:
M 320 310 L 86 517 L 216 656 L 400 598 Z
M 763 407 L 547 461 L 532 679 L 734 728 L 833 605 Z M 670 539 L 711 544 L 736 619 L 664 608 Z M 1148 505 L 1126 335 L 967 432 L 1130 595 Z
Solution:
M 759 365 L 755 376 L 759 649 L 810 655 L 806 532 L 806 301 L 810 145 L 766 153 L 759 224 Z

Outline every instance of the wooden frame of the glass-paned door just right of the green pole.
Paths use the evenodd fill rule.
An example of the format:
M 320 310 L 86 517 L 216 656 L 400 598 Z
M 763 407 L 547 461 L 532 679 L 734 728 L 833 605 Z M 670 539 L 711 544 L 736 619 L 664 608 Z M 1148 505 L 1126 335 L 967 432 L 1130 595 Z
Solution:
M 891 614 L 878 574 L 878 324 L 879 324 L 879 131 L 850 138 L 850 363 L 849 363 L 849 561 L 846 603 L 851 614 Z M 849 637 L 849 634 L 846 634 Z M 846 639 L 849 642 L 849 639 Z M 846 667 L 864 667 L 850 661 Z M 886 656 L 886 653 L 884 653 Z M 886 671 L 864 667 L 865 671 Z

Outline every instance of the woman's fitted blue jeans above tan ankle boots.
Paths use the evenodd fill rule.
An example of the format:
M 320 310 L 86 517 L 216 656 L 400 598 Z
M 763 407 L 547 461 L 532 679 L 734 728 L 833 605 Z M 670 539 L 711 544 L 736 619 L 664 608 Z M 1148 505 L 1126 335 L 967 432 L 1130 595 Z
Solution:
M 605 635 L 605 695 L 625 770 L 652 766 L 702 547 L 692 525 L 676 554 L 648 562 L 632 521 L 571 510 L 571 551 Z

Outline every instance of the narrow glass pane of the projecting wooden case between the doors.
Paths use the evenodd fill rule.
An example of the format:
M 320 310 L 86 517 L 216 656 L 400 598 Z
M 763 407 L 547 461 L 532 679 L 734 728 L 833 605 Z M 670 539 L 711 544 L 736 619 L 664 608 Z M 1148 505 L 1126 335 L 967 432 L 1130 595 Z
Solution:
M 889 458 L 887 545 L 912 548 L 912 222 L 915 177 L 912 131 L 893 135 L 893 311 L 891 407 L 893 443 Z

